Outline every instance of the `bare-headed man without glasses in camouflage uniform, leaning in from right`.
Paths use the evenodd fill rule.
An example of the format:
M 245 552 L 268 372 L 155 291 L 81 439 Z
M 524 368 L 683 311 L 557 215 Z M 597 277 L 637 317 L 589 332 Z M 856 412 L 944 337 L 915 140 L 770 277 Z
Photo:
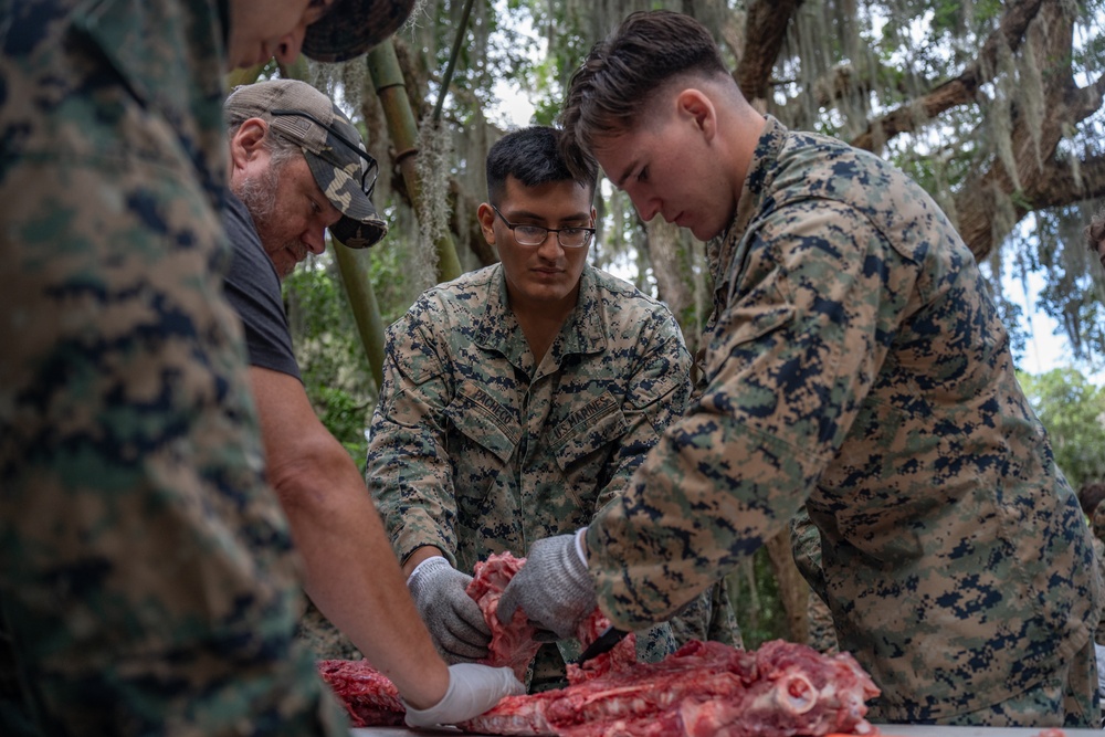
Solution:
M 877 157 L 745 101 L 709 33 L 634 13 L 569 87 L 565 148 L 709 249 L 708 388 L 623 495 L 535 544 L 501 617 L 663 619 L 804 503 L 874 720 L 1096 726 L 1077 501 L 970 252 Z

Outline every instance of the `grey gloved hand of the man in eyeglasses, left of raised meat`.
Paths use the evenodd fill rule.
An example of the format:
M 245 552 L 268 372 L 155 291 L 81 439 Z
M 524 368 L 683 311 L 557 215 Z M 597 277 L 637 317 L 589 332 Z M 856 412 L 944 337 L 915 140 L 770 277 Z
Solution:
M 491 628 L 464 590 L 471 580 L 440 556 L 420 562 L 407 579 L 433 644 L 450 664 L 487 656 Z

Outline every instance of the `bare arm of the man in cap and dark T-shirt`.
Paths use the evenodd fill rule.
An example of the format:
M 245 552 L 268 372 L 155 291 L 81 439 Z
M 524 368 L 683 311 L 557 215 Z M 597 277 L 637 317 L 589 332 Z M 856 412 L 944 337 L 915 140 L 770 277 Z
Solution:
M 315 417 L 298 380 L 259 367 L 250 372 L 269 481 L 303 556 L 307 592 L 408 703 L 435 703 L 449 673 L 356 464 Z

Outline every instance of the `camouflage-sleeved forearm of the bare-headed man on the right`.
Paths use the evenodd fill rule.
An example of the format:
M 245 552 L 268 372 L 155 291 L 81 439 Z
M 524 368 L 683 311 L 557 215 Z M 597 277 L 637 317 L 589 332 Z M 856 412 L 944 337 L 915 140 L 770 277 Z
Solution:
M 797 449 L 750 433 L 746 442 L 764 453 L 759 466 L 754 452 L 735 450 L 739 430 L 726 430 L 732 445 L 719 450 L 727 444 L 716 436 L 722 431 L 708 431 L 715 422 L 704 421 L 697 431 L 682 424 L 675 438 L 669 431 L 623 497 L 588 528 L 588 569 L 599 607 L 621 629 L 666 620 L 755 552 L 787 525 L 820 467 Z M 788 457 L 793 473 L 770 478 L 775 457 Z M 756 481 L 741 480 L 743 472 Z

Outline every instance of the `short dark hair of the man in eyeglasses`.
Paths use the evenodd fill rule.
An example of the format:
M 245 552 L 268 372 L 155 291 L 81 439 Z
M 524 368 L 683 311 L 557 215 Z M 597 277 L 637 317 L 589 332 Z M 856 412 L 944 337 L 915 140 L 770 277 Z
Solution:
M 594 194 L 599 170 L 594 162 L 572 171 L 560 156 L 560 131 L 548 126 L 530 126 L 508 133 L 487 151 L 487 198 L 498 204 L 506 192 L 506 178 L 526 187 L 572 180 Z

